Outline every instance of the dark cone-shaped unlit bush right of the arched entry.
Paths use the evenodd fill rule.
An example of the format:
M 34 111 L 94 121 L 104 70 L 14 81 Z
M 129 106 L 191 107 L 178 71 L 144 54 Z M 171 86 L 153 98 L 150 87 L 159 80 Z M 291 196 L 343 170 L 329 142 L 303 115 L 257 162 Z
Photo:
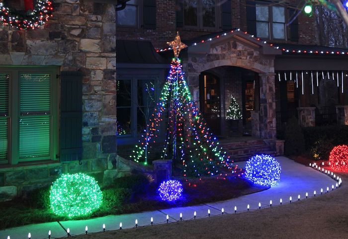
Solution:
M 305 141 L 302 129 L 295 117 L 289 119 L 286 123 L 284 133 L 284 154 L 300 155 L 305 150 Z

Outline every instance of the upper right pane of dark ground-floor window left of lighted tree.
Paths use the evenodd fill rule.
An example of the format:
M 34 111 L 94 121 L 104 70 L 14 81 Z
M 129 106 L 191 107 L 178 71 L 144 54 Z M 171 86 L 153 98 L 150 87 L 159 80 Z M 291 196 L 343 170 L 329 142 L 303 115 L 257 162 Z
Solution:
M 138 80 L 138 106 L 156 104 L 155 80 Z

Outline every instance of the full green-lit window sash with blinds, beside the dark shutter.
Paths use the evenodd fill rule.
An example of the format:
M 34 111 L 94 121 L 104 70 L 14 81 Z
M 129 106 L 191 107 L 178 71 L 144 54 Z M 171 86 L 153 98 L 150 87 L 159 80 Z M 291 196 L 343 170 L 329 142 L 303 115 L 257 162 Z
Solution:
M 20 73 L 19 162 L 49 159 L 51 75 Z

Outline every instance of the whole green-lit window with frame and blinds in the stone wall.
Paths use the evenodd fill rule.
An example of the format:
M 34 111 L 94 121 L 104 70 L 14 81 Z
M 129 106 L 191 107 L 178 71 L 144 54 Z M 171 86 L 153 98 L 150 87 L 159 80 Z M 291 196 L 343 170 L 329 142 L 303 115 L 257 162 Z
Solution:
M 56 74 L 54 67 L 0 67 L 0 163 L 56 158 Z

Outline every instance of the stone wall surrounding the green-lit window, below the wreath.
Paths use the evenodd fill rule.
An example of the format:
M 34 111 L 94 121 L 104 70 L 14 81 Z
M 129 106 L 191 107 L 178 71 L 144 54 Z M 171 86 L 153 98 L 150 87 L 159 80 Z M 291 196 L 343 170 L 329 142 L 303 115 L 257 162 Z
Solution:
M 0 26 L 0 65 L 58 65 L 83 73 L 82 165 L 6 166 L 0 169 L 0 194 L 49 184 L 62 173 L 89 172 L 101 184 L 118 176 L 115 6 L 55 0 L 53 7 L 53 17 L 38 29 Z

